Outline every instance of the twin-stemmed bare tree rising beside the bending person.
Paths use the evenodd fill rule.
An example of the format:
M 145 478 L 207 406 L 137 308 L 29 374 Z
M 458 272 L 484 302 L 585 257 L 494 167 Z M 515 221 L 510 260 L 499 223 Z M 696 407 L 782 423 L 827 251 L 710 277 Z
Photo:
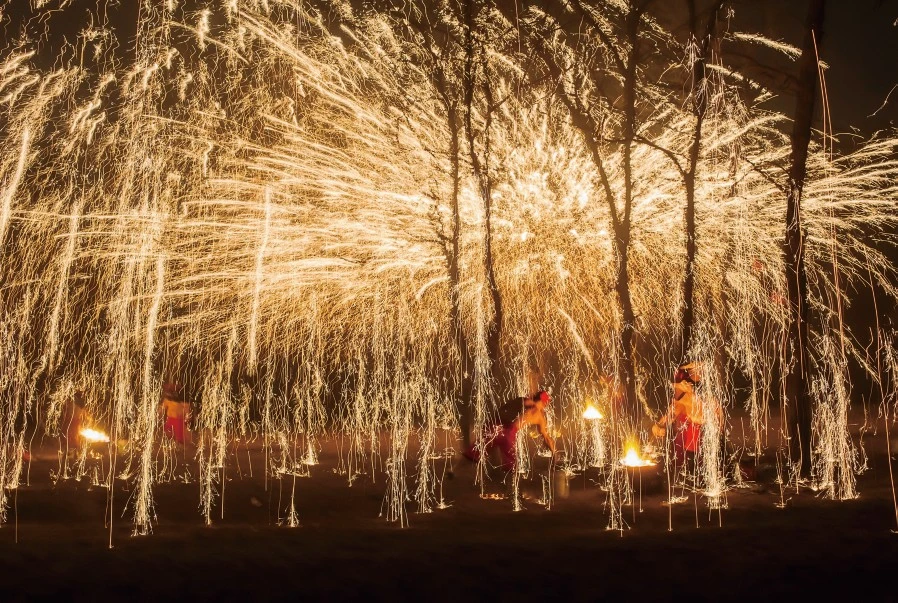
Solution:
M 453 340 L 461 361 L 461 427 L 465 444 L 470 444 L 474 426 L 474 394 L 477 363 L 475 346 L 462 321 L 461 283 L 461 185 L 472 177 L 482 203 L 483 278 L 489 295 L 486 312 L 487 364 L 481 384 L 494 389 L 501 374 L 501 334 L 503 326 L 502 295 L 496 278 L 493 255 L 493 189 L 495 186 L 492 161 L 491 129 L 493 112 L 503 100 L 493 94 L 493 66 L 487 48 L 498 44 L 493 39 L 487 4 L 476 0 L 459 0 L 442 5 L 438 10 L 426 2 L 406 3 L 395 7 L 389 2 L 372 2 L 381 12 L 389 13 L 393 26 L 404 30 L 402 37 L 411 47 L 406 59 L 415 61 L 415 70 L 427 78 L 428 88 L 445 118 L 445 149 L 431 152 L 448 159 L 448 216 L 434 212 L 434 227 L 446 261 L 449 280 L 449 311 Z M 403 104 L 402 99 L 397 99 Z M 404 106 L 408 103 L 404 103 Z M 406 111 L 414 110 L 407 106 Z M 438 195 L 435 195 L 438 196 Z M 484 367 L 488 366 L 488 369 Z M 484 391 L 487 398 L 492 391 Z

